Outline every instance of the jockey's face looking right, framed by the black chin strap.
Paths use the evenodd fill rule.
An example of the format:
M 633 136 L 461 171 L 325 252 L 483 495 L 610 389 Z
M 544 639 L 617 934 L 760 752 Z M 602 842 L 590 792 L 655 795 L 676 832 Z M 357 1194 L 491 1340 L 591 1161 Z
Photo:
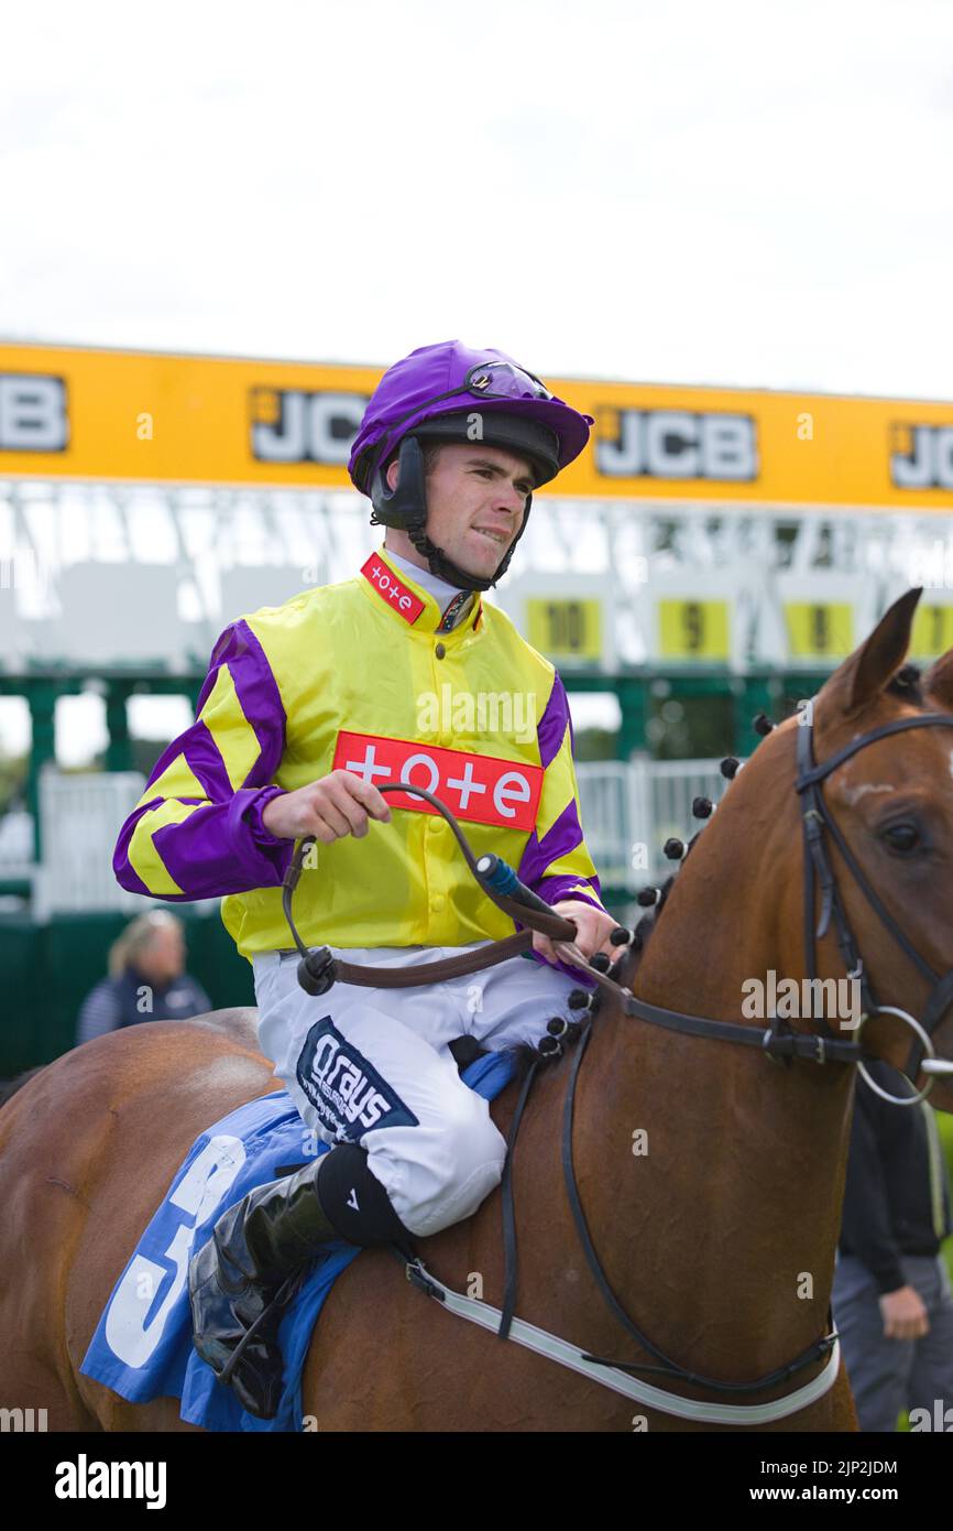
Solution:
M 387 470 L 393 488 L 398 464 Z M 427 536 L 468 574 L 494 573 L 523 525 L 534 476 L 529 462 L 482 441 L 441 447 L 427 475 Z M 387 547 L 425 566 L 404 531 L 387 531 Z M 407 551 L 410 550 L 410 551 Z

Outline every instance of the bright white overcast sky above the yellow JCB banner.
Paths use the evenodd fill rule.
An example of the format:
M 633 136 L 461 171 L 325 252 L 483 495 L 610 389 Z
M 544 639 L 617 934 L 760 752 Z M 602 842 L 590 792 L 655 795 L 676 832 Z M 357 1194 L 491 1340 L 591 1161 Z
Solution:
M 0 337 L 948 398 L 950 0 L 8 6 Z

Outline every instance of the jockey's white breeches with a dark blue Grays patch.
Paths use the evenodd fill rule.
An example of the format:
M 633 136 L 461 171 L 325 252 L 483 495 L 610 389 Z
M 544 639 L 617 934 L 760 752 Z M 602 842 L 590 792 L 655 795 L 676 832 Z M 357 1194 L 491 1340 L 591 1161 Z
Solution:
M 404 968 L 482 945 L 332 951 L 363 966 Z M 468 1035 L 488 1052 L 535 1044 L 554 1015 L 572 1020 L 568 998 L 578 981 L 511 957 L 448 983 L 335 983 L 312 998 L 297 966 L 297 952 L 254 958 L 259 1043 L 304 1124 L 324 1142 L 367 1150 L 369 1168 L 413 1234 L 470 1217 L 499 1183 L 506 1145 L 486 1101 L 460 1081 L 450 1043 Z

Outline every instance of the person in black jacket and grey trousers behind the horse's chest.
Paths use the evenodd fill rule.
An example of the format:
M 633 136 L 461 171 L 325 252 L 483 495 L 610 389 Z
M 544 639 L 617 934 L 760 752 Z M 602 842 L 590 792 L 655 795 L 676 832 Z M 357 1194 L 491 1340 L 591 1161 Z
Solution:
M 867 1070 L 890 1095 L 912 1093 L 889 1064 Z M 939 1252 L 951 1231 L 933 1108 L 890 1105 L 858 1079 L 834 1323 L 861 1430 L 896 1430 L 904 1409 L 912 1430 L 936 1428 L 953 1409 L 953 1295 Z

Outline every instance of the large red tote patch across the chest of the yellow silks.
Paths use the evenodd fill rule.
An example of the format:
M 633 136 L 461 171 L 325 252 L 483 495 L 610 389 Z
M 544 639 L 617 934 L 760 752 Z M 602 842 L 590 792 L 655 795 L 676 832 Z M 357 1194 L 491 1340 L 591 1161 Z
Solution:
M 500 830 L 535 828 L 543 792 L 543 767 L 525 761 L 503 761 L 496 755 L 470 755 L 418 739 L 389 739 L 379 733 L 338 733 L 332 770 L 350 770 L 378 787 L 382 781 L 404 781 L 425 787 L 459 819 L 494 824 Z M 439 813 L 425 798 L 389 792 L 392 808 L 413 813 Z

